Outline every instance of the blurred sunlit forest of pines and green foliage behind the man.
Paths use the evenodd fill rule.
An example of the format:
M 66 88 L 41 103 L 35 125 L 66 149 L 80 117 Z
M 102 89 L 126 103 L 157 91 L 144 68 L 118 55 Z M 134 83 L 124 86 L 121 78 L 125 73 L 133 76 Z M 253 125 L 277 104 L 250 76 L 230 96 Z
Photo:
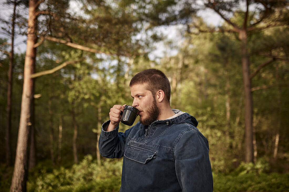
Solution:
M 130 79 L 149 68 L 208 139 L 214 191 L 289 191 L 289 1 L 2 7 L 0 191 L 119 191 L 122 158 L 101 157 L 101 125 L 132 104 Z

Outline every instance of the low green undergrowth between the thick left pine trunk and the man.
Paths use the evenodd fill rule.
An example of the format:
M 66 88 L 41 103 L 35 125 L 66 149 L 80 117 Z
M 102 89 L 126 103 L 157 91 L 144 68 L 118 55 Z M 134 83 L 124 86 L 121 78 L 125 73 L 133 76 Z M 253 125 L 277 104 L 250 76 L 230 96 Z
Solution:
M 118 191 L 121 168 L 121 160 L 107 160 L 97 165 L 91 155 L 71 168 L 38 164 L 29 173 L 27 191 Z

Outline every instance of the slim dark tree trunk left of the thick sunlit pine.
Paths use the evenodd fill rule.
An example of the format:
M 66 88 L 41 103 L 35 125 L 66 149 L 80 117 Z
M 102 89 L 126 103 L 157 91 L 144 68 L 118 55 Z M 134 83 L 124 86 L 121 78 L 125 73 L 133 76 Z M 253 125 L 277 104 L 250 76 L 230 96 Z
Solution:
M 12 98 L 12 71 L 14 57 L 14 26 L 15 26 L 16 0 L 14 1 L 13 16 L 12 16 L 12 34 L 11 34 L 11 51 L 9 55 L 9 71 L 8 71 L 8 89 L 7 89 L 7 121 L 5 130 L 5 149 L 6 149 L 6 165 L 12 165 L 11 161 L 11 98 Z

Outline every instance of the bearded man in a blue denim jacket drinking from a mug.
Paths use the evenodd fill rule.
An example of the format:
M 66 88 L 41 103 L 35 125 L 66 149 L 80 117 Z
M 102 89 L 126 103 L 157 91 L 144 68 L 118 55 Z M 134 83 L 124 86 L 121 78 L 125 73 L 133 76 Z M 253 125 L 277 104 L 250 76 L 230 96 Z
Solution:
M 125 105 L 114 105 L 99 138 L 103 157 L 123 157 L 120 191 L 213 191 L 208 140 L 193 116 L 171 109 L 165 74 L 146 69 L 129 87 L 140 121 L 118 132 Z

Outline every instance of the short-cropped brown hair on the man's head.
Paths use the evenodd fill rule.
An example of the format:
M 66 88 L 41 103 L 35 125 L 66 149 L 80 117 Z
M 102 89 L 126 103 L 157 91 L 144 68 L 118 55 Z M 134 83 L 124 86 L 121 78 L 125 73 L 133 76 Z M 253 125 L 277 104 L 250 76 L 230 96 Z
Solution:
M 137 73 L 129 83 L 129 87 L 136 84 L 147 83 L 147 90 L 151 91 L 153 96 L 158 90 L 163 90 L 168 103 L 171 98 L 171 85 L 166 75 L 158 69 L 145 69 Z

